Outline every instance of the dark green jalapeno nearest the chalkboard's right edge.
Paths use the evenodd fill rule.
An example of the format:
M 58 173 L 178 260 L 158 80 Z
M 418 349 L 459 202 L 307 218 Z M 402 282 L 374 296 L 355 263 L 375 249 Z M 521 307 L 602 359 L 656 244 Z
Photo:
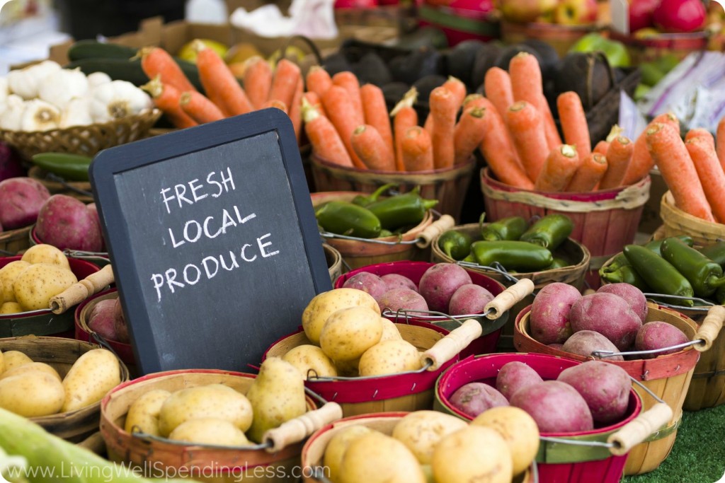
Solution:
M 347 201 L 328 201 L 315 211 L 318 224 L 331 233 L 378 238 L 380 220 L 370 210 Z

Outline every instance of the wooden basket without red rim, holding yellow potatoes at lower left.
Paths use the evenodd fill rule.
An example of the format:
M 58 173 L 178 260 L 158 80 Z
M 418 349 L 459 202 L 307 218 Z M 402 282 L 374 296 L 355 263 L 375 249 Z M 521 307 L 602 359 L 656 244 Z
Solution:
M 99 345 L 64 337 L 25 335 L 24 337 L 0 339 L 2 352 L 18 350 L 33 359 L 33 362 L 49 364 L 58 371 L 60 377 L 65 377 L 80 356 L 89 350 L 98 348 L 100 348 Z M 120 366 L 121 382 L 128 381 L 128 368 L 123 361 L 118 361 L 118 365 Z M 62 437 L 64 440 L 80 442 L 98 431 L 100 416 L 101 401 L 76 411 L 30 418 L 30 421 L 40 424 L 47 432 Z

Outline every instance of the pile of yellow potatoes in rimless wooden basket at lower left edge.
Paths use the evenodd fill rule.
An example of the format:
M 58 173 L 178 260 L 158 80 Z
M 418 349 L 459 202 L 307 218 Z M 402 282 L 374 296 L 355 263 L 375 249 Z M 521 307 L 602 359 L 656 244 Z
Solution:
M 63 378 L 20 351 L 0 353 L 0 408 L 26 418 L 86 408 L 120 382 L 118 359 L 106 349 L 84 353 Z

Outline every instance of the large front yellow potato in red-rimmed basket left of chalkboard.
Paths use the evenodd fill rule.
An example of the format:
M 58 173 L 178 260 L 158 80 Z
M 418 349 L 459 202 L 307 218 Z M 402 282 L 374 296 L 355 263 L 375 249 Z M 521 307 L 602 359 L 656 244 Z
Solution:
M 32 264 L 15 277 L 15 300 L 26 311 L 48 308 L 51 297 L 75 282 L 78 278 L 68 269 L 51 264 Z

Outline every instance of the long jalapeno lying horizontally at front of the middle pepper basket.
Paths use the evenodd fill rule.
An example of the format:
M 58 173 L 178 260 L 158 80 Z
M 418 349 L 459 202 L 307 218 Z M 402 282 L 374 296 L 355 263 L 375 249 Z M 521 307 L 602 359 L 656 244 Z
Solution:
M 554 261 L 547 248 L 518 240 L 477 241 L 471 245 L 471 253 L 479 265 L 491 266 L 497 261 L 507 270 L 519 272 L 543 270 Z

